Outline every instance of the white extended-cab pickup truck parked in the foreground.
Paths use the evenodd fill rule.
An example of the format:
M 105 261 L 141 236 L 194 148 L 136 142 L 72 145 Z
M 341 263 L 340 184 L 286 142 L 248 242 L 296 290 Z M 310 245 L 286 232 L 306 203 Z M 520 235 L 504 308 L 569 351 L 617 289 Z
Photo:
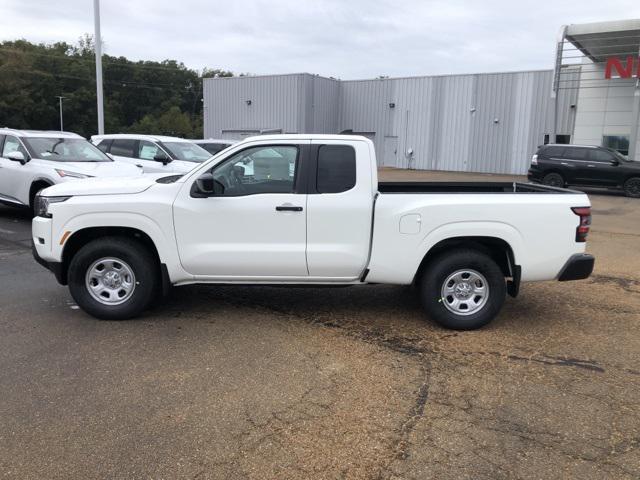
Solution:
M 171 285 L 415 283 L 430 317 L 473 329 L 521 281 L 594 264 L 583 193 L 379 183 L 358 136 L 248 138 L 183 176 L 47 188 L 36 214 L 36 260 L 101 319 L 134 317 Z

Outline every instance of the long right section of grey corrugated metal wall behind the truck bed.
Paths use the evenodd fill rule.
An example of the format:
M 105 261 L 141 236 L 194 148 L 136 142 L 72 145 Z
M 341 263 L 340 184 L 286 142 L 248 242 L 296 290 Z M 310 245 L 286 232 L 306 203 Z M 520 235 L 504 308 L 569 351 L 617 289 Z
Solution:
M 553 131 L 552 78 L 545 70 L 345 81 L 340 129 L 375 133 L 381 166 L 523 174 Z M 576 95 L 561 92 L 559 134 L 573 133 Z M 385 143 L 396 141 L 394 153 Z

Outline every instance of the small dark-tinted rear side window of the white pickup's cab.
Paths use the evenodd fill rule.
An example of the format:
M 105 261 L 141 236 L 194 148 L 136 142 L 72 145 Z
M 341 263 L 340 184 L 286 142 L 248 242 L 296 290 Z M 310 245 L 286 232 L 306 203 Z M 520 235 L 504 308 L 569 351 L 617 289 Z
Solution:
M 356 184 L 356 151 L 348 145 L 321 145 L 318 149 L 318 193 L 340 193 Z

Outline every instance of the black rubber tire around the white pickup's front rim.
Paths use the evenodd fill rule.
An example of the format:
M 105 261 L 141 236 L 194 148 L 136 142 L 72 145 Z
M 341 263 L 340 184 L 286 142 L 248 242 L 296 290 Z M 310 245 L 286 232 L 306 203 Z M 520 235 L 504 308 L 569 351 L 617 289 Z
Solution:
M 134 287 L 123 303 L 105 304 L 89 292 L 87 272 L 96 263 L 99 268 L 100 259 L 115 259 L 112 263 L 118 265 L 119 261 L 120 268 L 124 264 L 132 271 L 130 284 Z M 68 280 L 71 296 L 85 312 L 101 320 L 127 320 L 142 313 L 155 298 L 160 269 L 149 249 L 140 242 L 125 237 L 104 237 L 87 243 L 75 254 L 69 264 Z M 114 298 L 113 301 L 120 300 Z

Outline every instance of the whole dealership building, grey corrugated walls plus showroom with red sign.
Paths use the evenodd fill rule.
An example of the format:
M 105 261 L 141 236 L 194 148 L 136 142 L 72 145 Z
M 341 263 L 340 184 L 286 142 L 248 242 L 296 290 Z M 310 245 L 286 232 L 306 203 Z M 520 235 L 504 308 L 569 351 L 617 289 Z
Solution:
M 348 81 L 208 78 L 204 133 L 364 135 L 379 166 L 424 170 L 523 174 L 549 142 L 604 145 L 640 160 L 640 20 L 563 26 L 553 67 Z

